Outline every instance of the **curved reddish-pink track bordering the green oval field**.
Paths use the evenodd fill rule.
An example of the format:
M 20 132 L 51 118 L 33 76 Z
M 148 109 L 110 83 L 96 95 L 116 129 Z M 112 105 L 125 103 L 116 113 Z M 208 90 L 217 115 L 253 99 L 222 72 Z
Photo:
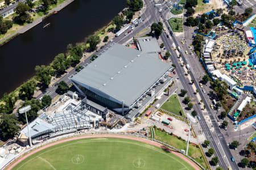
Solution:
M 189 160 L 188 158 L 186 158 L 184 155 L 181 155 L 175 151 L 171 151 L 168 148 L 164 147 L 163 145 L 160 145 L 159 143 L 153 142 L 153 141 L 148 141 L 146 139 L 142 139 L 142 138 L 134 138 L 134 137 L 128 137 L 128 136 L 122 136 L 122 135 L 112 135 L 112 134 L 102 134 L 102 135 L 85 135 L 85 136 L 81 136 L 81 137 L 74 137 L 74 138 L 68 138 L 68 139 L 64 139 L 62 141 L 57 141 L 57 142 L 53 142 L 49 145 L 40 147 L 34 151 L 29 152 L 27 155 L 23 156 L 22 158 L 18 159 L 15 163 L 11 164 L 9 167 L 5 168 L 6 170 L 11 170 L 12 168 L 15 167 L 15 165 L 17 165 L 18 163 L 22 162 L 22 160 L 26 159 L 28 156 L 31 156 L 32 154 L 35 154 L 36 152 L 39 152 L 41 150 L 44 150 L 45 148 L 51 147 L 53 145 L 57 145 L 59 143 L 64 143 L 64 142 L 68 142 L 68 141 L 73 141 L 73 140 L 77 140 L 77 139 L 85 139 L 85 138 L 98 138 L 98 137 L 106 137 L 106 138 L 123 138 L 123 139 L 131 139 L 134 141 L 140 141 L 140 142 L 144 142 L 144 143 L 148 143 L 150 145 L 154 145 L 157 147 L 161 147 L 164 148 L 166 150 L 168 150 L 169 152 L 172 152 L 172 154 L 179 156 L 179 158 L 185 160 L 185 162 L 189 163 L 193 168 L 195 168 L 196 170 L 200 170 L 199 167 L 197 167 L 197 165 L 195 163 L 193 163 L 191 160 Z M 21 155 L 22 156 L 22 155 Z M 15 161 L 15 160 L 14 160 Z

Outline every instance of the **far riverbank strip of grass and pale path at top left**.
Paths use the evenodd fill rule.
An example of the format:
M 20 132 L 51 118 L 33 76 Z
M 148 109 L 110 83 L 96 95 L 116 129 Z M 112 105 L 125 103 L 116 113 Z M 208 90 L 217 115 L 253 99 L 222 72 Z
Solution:
M 17 28 L 15 27 L 14 25 L 14 30 L 15 29 L 18 29 L 18 31 L 15 31 L 14 33 L 11 33 L 9 36 L 7 37 L 4 37 L 3 39 L 0 40 L 0 46 L 3 45 L 3 44 L 6 44 L 7 42 L 9 42 L 10 40 L 14 39 L 16 36 L 18 36 L 19 34 L 22 34 L 22 33 L 25 33 L 27 32 L 29 29 L 35 27 L 36 25 L 38 25 L 39 23 L 41 23 L 44 19 L 46 19 L 48 16 L 51 16 L 52 14 L 54 14 L 55 12 L 59 12 L 60 10 L 62 10 L 63 8 L 65 8 L 66 6 L 68 6 L 71 2 L 73 2 L 75 0 L 65 0 L 65 1 L 61 1 L 61 3 L 52 8 L 46 15 L 43 15 L 43 16 L 40 16 L 40 14 L 38 14 L 38 16 L 35 16 L 32 15 L 32 18 L 33 19 L 36 19 L 34 20 L 34 22 L 30 23 L 30 24 L 27 24 L 25 23 L 24 26 L 20 29 L 18 29 L 18 25 L 17 25 Z M 15 15 L 15 14 L 13 14 Z M 9 16 L 10 17 L 10 16 Z M 39 18 L 38 18 L 39 17 Z M 9 32 L 13 32 L 13 30 L 10 30 Z M 8 32 L 7 32 L 8 33 Z M 6 33 L 6 34 L 7 34 Z

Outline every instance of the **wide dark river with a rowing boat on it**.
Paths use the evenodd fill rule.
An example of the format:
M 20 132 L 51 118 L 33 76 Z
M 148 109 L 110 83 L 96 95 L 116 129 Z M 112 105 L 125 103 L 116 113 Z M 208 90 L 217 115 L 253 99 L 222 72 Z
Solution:
M 36 65 L 48 65 L 67 45 L 108 24 L 125 8 L 125 0 L 75 0 L 26 33 L 0 47 L 0 97 L 35 75 Z M 46 23 L 49 27 L 43 28 Z

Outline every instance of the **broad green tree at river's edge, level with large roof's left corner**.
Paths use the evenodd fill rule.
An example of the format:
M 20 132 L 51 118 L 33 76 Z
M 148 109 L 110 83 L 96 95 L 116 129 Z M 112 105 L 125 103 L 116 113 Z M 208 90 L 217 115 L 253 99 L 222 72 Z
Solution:
M 42 83 L 43 87 L 47 87 L 51 82 L 51 74 L 53 74 L 53 70 L 51 66 L 36 66 L 36 79 Z

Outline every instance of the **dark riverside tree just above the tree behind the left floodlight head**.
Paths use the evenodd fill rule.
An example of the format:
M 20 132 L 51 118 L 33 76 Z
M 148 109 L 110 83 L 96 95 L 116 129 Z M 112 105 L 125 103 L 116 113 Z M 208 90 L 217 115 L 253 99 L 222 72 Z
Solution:
M 34 95 L 34 91 L 36 90 L 36 82 L 34 80 L 30 80 L 22 86 L 20 86 L 19 90 L 19 96 L 25 97 L 28 100 L 32 99 L 32 96 Z

